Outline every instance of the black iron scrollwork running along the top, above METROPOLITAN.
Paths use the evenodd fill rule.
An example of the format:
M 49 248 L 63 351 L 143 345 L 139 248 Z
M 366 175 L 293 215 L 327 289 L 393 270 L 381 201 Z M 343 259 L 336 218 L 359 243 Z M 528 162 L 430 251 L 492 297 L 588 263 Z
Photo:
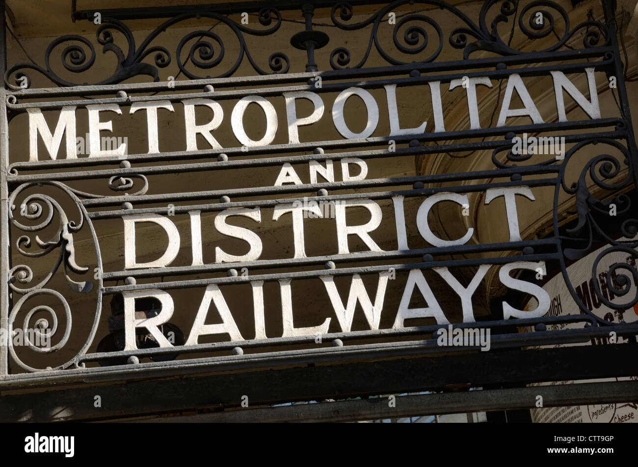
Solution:
M 498 12 L 494 13 L 496 4 L 500 3 Z M 373 3 L 374 4 L 374 3 Z M 380 40 L 380 25 L 392 13 L 406 4 L 413 5 L 415 9 L 424 6 L 421 10 L 415 10 L 406 13 L 392 27 L 392 44 L 396 51 L 404 56 L 415 56 L 417 60 L 406 61 L 395 57 L 387 52 Z M 323 6 L 320 5 L 320 6 Z M 429 8 L 428 8 L 429 7 Z M 290 7 L 293 8 L 293 7 Z M 296 8 L 296 7 L 295 7 Z M 370 28 L 369 40 L 363 57 L 356 64 L 352 64 L 352 53 L 346 47 L 339 46 L 330 52 L 329 63 L 333 70 L 343 70 L 346 68 L 362 68 L 371 54 L 373 45 L 383 60 L 390 65 L 407 64 L 407 63 L 431 63 L 435 61 L 443 50 L 443 31 L 439 21 L 427 14 L 430 10 L 442 10 L 450 13 L 454 20 L 461 20 L 464 26 L 456 27 L 449 34 L 449 45 L 456 49 L 463 50 L 463 59 L 468 59 L 471 54 L 478 51 L 493 52 L 500 56 L 512 56 L 522 54 L 522 50 L 517 50 L 510 46 L 510 41 L 501 38 L 499 26 L 510 21 L 519 26 L 520 31 L 531 40 L 540 40 L 547 38 L 550 34 L 556 34 L 556 41 L 545 47 L 540 52 L 553 52 L 563 48 L 567 42 L 574 38 L 579 31 L 585 31 L 582 38 L 584 48 L 591 48 L 603 45 L 609 45 L 609 33 L 604 24 L 587 20 L 575 27 L 570 26 L 570 21 L 565 9 L 554 1 L 535 0 L 525 4 L 519 8 L 518 0 L 489 0 L 486 1 L 479 13 L 479 22 L 473 22 L 463 11 L 456 6 L 441 0 L 397 0 L 393 3 L 383 6 L 378 12 L 374 13 L 367 19 L 360 22 L 350 24 L 349 21 L 355 15 L 352 4 L 339 2 L 330 8 L 331 26 L 337 27 L 340 31 L 361 31 Z M 538 15 L 542 21 L 538 22 Z M 177 66 L 181 73 L 189 79 L 200 78 L 223 78 L 230 77 L 239 69 L 244 61 L 244 56 L 248 59 L 253 70 L 260 75 L 267 74 L 284 74 L 290 71 L 290 59 L 283 52 L 274 52 L 268 57 L 268 68 L 265 70 L 258 65 L 249 52 L 246 43 L 246 36 L 273 36 L 280 29 L 282 24 L 281 13 L 276 8 L 269 6 L 262 8 L 257 14 L 258 22 L 264 29 L 253 29 L 244 24 L 236 22 L 214 10 L 203 9 L 198 12 L 188 12 L 177 15 L 160 24 L 142 41 L 139 47 L 136 46 L 135 38 L 131 29 L 120 20 L 103 17 L 101 26 L 96 31 L 96 40 L 102 46 L 103 54 L 112 52 L 117 57 L 117 67 L 108 78 L 93 85 L 117 84 L 128 78 L 146 75 L 154 82 L 159 81 L 159 69 L 166 68 L 172 60 L 177 61 Z M 493 20 L 488 24 L 488 17 Z M 517 17 L 517 20 L 516 20 Z M 237 50 L 237 58 L 226 70 L 219 70 L 216 73 L 207 73 L 208 70 L 217 70 L 224 62 L 226 50 L 223 38 L 212 30 L 214 25 L 209 29 L 198 29 L 192 31 L 182 37 L 176 49 L 175 56 L 172 57 L 168 48 L 163 45 L 151 46 L 158 36 L 165 32 L 168 27 L 174 26 L 181 22 L 191 19 L 209 18 L 218 21 L 230 29 L 232 35 L 239 43 Z M 451 19 L 451 18 L 450 18 Z M 90 18 L 89 20 L 93 20 Z M 556 33 L 556 26 L 562 24 L 564 31 L 561 35 Z M 426 57 L 419 54 L 424 52 L 428 45 L 433 42 L 428 29 L 432 29 L 434 33 L 435 45 L 433 50 Z M 403 34 L 401 34 L 403 31 Z M 318 33 L 318 31 L 313 31 Z M 126 40 L 126 47 L 122 48 L 115 43 L 115 33 L 120 33 Z M 323 34 L 323 33 L 322 33 Z M 343 36 L 343 34 L 341 34 Z M 326 35 L 326 41 L 328 36 Z M 346 34 L 347 37 L 347 34 Z M 340 37 L 341 38 L 341 37 Z M 470 38 L 474 40 L 471 41 Z M 193 42 L 194 41 L 194 42 Z M 188 48 L 188 43 L 192 45 Z M 93 43 L 77 34 L 66 35 L 57 38 L 48 45 L 45 51 L 45 66 L 34 63 L 18 63 L 11 66 L 4 76 L 4 81 L 10 89 L 20 89 L 20 85 L 24 87 L 26 80 L 27 87 L 31 84 L 31 79 L 24 70 L 36 70 L 45 75 L 52 82 L 60 86 L 85 85 L 86 82 L 71 82 L 61 77 L 52 67 L 52 54 L 54 49 L 59 46 L 66 45 L 61 52 L 61 63 L 67 71 L 71 73 L 83 73 L 88 71 L 96 63 L 96 50 Z M 193 67 L 200 71 L 191 71 L 186 66 L 186 62 L 182 63 L 182 55 L 188 48 L 188 61 Z M 126 54 L 124 53 L 126 50 Z M 153 63 L 146 63 L 145 59 L 152 56 Z

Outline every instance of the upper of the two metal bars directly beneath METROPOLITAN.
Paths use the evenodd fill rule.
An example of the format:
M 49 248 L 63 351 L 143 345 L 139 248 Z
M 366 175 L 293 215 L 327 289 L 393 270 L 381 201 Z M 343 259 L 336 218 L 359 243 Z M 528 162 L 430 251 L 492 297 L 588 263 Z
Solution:
M 459 131 L 440 131 L 437 133 L 417 133 L 414 135 L 403 136 L 388 136 L 388 137 L 371 137 L 371 138 L 359 138 L 353 140 L 329 140 L 329 141 L 315 141 L 308 143 L 298 144 L 272 144 L 260 147 L 249 147 L 248 151 L 243 151 L 242 147 L 228 147 L 222 149 L 202 149 L 200 151 L 172 151 L 172 152 L 159 152 L 156 154 L 128 154 L 125 159 L 120 156 L 100 156 L 99 158 L 79 158 L 79 159 L 56 159 L 45 161 L 33 161 L 33 162 L 15 162 L 10 165 L 10 170 L 13 167 L 16 168 L 54 168 L 54 167 L 80 167 L 85 165 L 103 165 L 107 163 L 120 163 L 122 160 L 128 161 L 167 161 L 176 159 L 188 159 L 198 157 L 213 157 L 219 154 L 227 154 L 229 158 L 232 156 L 249 156 L 251 154 L 271 154 L 273 152 L 299 152 L 299 151 L 313 151 L 317 147 L 322 149 L 340 149 L 344 147 L 371 147 L 374 145 L 387 145 L 390 140 L 394 140 L 397 144 L 410 142 L 411 140 L 417 140 L 419 142 L 434 142 L 445 140 L 456 140 L 465 138 L 487 138 L 504 136 L 507 133 L 515 133 L 521 135 L 526 132 L 530 133 L 542 133 L 545 131 L 567 131 L 577 129 L 588 129 L 598 127 L 618 126 L 623 124 L 624 120 L 619 117 L 594 119 L 594 120 L 579 120 L 573 122 L 551 122 L 542 124 L 528 124 L 528 125 L 516 125 L 516 126 L 500 126 L 497 128 L 481 128 L 479 130 L 459 130 Z M 619 137 L 626 137 L 627 131 L 615 131 Z M 567 136 L 566 136 L 567 138 Z M 510 140 L 503 140 L 503 145 L 507 144 Z M 470 143 L 472 144 L 472 143 Z M 475 142 L 477 147 L 482 147 L 482 142 Z M 436 146 L 435 146 L 436 147 Z M 440 147 L 440 146 L 439 146 Z M 425 149 L 423 147 L 423 149 Z M 316 154 L 319 156 L 320 154 Z

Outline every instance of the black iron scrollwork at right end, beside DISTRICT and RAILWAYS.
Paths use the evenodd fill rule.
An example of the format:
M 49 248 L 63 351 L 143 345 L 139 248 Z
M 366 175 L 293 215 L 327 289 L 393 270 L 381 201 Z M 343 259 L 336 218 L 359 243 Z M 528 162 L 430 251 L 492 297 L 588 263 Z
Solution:
M 623 130 L 625 126 L 619 125 L 617 129 Z M 592 147 L 607 147 L 614 149 L 616 154 L 611 154 L 609 149 L 600 151 L 596 156 L 590 157 L 579 170 L 568 169 L 577 165 L 579 151 L 587 151 Z M 527 154 L 512 154 L 511 145 L 503 145 L 494 149 L 492 162 L 498 168 L 515 167 L 510 164 L 521 164 L 531 161 L 537 156 L 533 152 Z M 607 152 L 609 151 L 609 152 Z M 505 152 L 505 160 L 501 160 L 499 154 Z M 570 290 L 572 299 L 578 304 L 582 313 L 593 316 L 598 323 L 614 325 L 601 316 L 595 315 L 583 302 L 577 293 L 567 272 L 565 259 L 576 261 L 590 255 L 597 250 L 596 245 L 607 246 L 598 253 L 593 261 L 591 270 L 592 291 L 596 295 L 597 302 L 615 311 L 631 309 L 638 303 L 638 293 L 625 300 L 632 285 L 638 286 L 638 271 L 636 260 L 638 259 L 638 218 L 636 208 L 632 203 L 632 197 L 626 191 L 635 184 L 634 161 L 626 145 L 611 138 L 588 138 L 577 142 L 565 152 L 565 158 L 559 163 L 555 158 L 538 161 L 533 164 L 538 167 L 556 167 L 558 185 L 554 193 L 553 214 L 555 222 L 554 234 L 561 242 L 560 268 L 565 284 Z M 568 174 L 578 174 L 575 181 L 568 181 Z M 570 225 L 558 228 L 558 213 L 560 212 L 560 195 L 565 193 L 575 200 L 575 220 Z M 602 199 L 604 198 L 604 199 Z M 610 216 L 613 212 L 613 217 Z M 618 229 L 621 239 L 610 235 L 610 219 L 618 219 Z M 609 267 L 603 267 L 605 256 L 626 254 L 623 262 L 615 262 Z M 601 271 L 604 270 L 601 278 Z

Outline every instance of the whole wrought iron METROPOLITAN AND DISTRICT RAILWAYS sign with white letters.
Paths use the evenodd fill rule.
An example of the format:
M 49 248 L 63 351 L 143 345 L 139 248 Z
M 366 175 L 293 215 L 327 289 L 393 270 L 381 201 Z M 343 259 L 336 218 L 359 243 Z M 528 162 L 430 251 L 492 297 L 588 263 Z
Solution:
M 593 293 L 612 309 L 638 302 L 638 153 L 614 10 L 603 3 L 604 21 L 576 25 L 545 0 L 489 0 L 480 11 L 433 0 L 76 13 L 95 25 L 97 47 L 62 36 L 42 64 L 13 64 L 4 76 L 0 381 L 487 350 L 445 345 L 470 329 L 491 332 L 489 348 L 584 342 L 611 329 L 633 338 L 638 325 L 590 311 L 566 269 L 609 244 Z M 303 21 L 286 22 L 295 10 Z M 152 15 L 170 19 L 138 45 L 125 22 Z M 197 26 L 209 19 L 215 28 Z M 193 31 L 174 50 L 163 45 L 181 25 Z M 538 47 L 517 50 L 515 33 Z M 281 43 L 305 56 L 273 49 Z M 109 56 L 117 64 L 105 77 L 98 63 Z M 188 80 L 163 75 L 170 64 Z M 611 113 L 598 100 L 610 78 Z M 538 110 L 537 80 L 551 83 L 556 121 Z M 442 103 L 455 89 L 468 115 L 460 129 Z M 489 93 L 499 96 L 491 122 L 477 98 Z M 422 111 L 404 114 L 406 100 Z M 348 111 L 356 103 L 363 121 Z M 145 124 L 130 128 L 140 115 Z M 179 145 L 167 144 L 166 125 Z M 140 151 L 130 151 L 133 138 Z M 463 158 L 466 170 L 373 170 L 404 158 Z M 189 177 L 197 173 L 206 182 Z M 256 184 L 264 173 L 274 177 Z M 521 203 L 542 210 L 547 190 L 547 235 L 523 239 Z M 466 213 L 488 205 L 502 207 L 506 241 L 478 240 Z M 466 212 L 448 231 L 460 235 L 433 225 L 441 209 Z M 309 242 L 319 222 L 322 240 Z M 164 239 L 155 256 L 142 225 Z M 269 233 L 278 225 L 285 230 Z M 270 235 L 288 248 L 267 249 Z M 232 248 L 215 244 L 222 237 Z M 618 252 L 627 261 L 599 281 L 605 256 Z M 562 272 L 580 315 L 548 314 L 548 271 Z M 479 321 L 473 297 L 489 277 L 528 306 L 510 293 L 498 301 L 502 317 Z M 456 315 L 431 278 L 456 293 Z M 329 307 L 300 322 L 315 295 Z M 192 297 L 198 306 L 187 311 Z M 353 330 L 356 316 L 366 329 Z M 579 326 L 547 329 L 561 323 Z

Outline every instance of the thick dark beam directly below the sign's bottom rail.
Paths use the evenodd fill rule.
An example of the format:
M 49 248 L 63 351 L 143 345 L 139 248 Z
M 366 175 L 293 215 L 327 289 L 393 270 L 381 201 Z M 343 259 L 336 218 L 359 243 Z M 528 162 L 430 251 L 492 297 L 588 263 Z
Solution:
M 391 354 L 390 352 L 388 355 Z M 341 360 L 332 366 L 300 367 L 299 360 L 279 359 L 271 366 L 264 365 L 259 369 L 251 368 L 250 364 L 237 365 L 236 357 L 247 356 L 235 355 L 229 357 L 230 360 L 235 358 L 232 366 L 219 366 L 199 360 L 197 367 L 180 367 L 175 365 L 179 362 L 163 362 L 163 365 L 152 364 L 152 369 L 142 365 L 131 366 L 126 373 L 122 372 L 121 367 L 77 368 L 57 373 L 28 374 L 22 381 L 0 383 L 0 419 L 33 422 L 89 420 L 198 408 L 230 408 L 240 406 L 242 394 L 247 394 L 251 406 L 255 406 L 424 390 L 439 391 L 446 385 L 455 383 L 469 383 L 472 387 L 501 387 L 545 381 L 632 376 L 638 374 L 638 360 L 632 358 L 634 355 L 634 345 L 621 344 L 539 350 L 512 349 L 390 360 L 376 354 L 362 354 L 356 357 L 357 362 Z M 361 361 L 365 356 L 376 360 Z M 565 362 L 570 364 L 565 365 Z M 282 367 L 286 364 L 288 367 Z M 233 367 L 243 371 L 226 373 Z M 499 371 L 494 371 L 494 368 Z M 162 377 L 166 379 L 157 379 Z M 83 384 L 73 390 L 59 387 L 61 384 L 74 382 Z M 126 384 L 107 385 L 107 382 Z M 59 389 L 54 389 L 54 386 Z M 20 387 L 48 387 L 49 390 L 23 391 L 21 394 L 5 392 Z M 551 388 L 544 387 L 545 390 Z M 543 387 L 535 389 L 543 390 Z M 99 410 L 93 406 L 95 394 L 102 397 L 103 405 Z M 175 394 L 181 394 L 181 397 L 175 397 Z M 34 401 L 37 402 L 38 410 L 34 410 Z M 117 403 L 105 404 L 104 401 Z

